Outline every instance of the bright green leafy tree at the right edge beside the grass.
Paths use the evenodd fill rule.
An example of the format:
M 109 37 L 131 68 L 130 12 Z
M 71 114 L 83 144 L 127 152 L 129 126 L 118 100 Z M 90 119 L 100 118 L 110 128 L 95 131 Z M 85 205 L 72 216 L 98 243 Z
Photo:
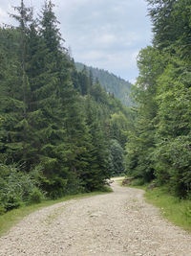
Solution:
M 180 197 L 190 187 L 190 75 L 183 61 L 172 58 L 159 77 L 159 124 L 155 151 L 156 175 Z

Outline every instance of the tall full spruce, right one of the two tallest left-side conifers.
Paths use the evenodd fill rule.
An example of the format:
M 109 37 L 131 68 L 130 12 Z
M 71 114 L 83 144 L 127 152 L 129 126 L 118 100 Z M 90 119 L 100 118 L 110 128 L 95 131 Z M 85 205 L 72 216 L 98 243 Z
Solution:
M 71 119 L 70 109 L 74 109 L 76 95 L 71 81 L 72 62 L 61 46 L 57 23 L 52 2 L 45 2 L 40 20 L 40 35 L 48 53 L 45 59 L 44 84 L 37 93 L 40 97 L 44 92 L 45 96 L 39 101 L 45 121 L 41 130 L 44 144 L 41 165 L 43 163 L 44 174 L 48 177 L 46 190 L 50 190 L 52 197 L 67 193 L 67 182 L 71 182 L 69 180 L 74 175 L 66 159 L 69 149 L 74 150 L 74 145 L 70 144 L 68 125 Z

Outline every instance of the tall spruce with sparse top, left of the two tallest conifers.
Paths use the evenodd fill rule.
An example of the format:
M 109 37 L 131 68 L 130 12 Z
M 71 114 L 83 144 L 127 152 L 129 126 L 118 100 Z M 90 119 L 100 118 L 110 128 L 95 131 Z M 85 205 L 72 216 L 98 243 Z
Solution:
M 9 105 L 11 103 L 11 107 L 9 107 L 10 109 L 7 114 L 8 118 L 6 118 L 8 121 L 4 122 L 5 126 L 7 126 L 6 129 L 9 130 L 9 136 L 5 139 L 6 145 L 4 151 L 7 151 L 9 154 L 9 161 L 13 160 L 25 163 L 26 166 L 26 155 L 29 151 L 27 134 L 30 129 L 28 124 L 28 105 L 31 90 L 26 74 L 26 39 L 29 31 L 29 22 L 32 20 L 32 10 L 26 8 L 23 1 L 21 1 L 21 6 L 14 7 L 14 10 L 18 12 L 18 14 L 11 14 L 11 16 L 19 22 L 19 27 L 14 35 L 17 34 L 19 36 L 20 43 L 16 47 L 16 58 L 10 57 L 11 61 L 14 59 L 14 61 L 17 62 L 14 64 L 12 70 L 10 70 L 11 62 L 8 63 L 10 59 L 4 59 L 8 63 L 6 76 L 11 78 L 12 74 L 14 74 L 12 81 L 10 79 L 10 81 L 8 80 L 5 90 L 7 91 L 6 95 L 3 95 L 4 101 L 7 97 L 7 103 L 9 102 Z M 17 73 L 17 75 L 15 73 Z M 18 79 L 18 77 L 20 78 Z M 17 79 L 15 80 L 15 78 Z M 4 81 L 6 80 L 7 79 L 5 78 Z M 12 120 L 11 118 L 14 118 L 13 123 L 9 121 Z

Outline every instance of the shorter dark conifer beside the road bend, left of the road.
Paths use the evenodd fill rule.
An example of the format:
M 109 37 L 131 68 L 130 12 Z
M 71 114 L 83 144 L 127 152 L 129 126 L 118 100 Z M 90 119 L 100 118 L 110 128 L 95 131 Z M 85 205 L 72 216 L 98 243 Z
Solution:
M 84 173 L 84 180 L 88 191 L 102 189 L 105 181 L 109 178 L 111 170 L 109 169 L 109 149 L 106 138 L 104 137 L 101 124 L 99 122 L 99 112 L 96 102 L 91 97 L 86 102 L 87 125 L 91 133 L 91 149 L 89 166 Z

